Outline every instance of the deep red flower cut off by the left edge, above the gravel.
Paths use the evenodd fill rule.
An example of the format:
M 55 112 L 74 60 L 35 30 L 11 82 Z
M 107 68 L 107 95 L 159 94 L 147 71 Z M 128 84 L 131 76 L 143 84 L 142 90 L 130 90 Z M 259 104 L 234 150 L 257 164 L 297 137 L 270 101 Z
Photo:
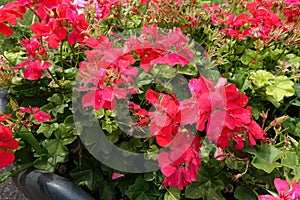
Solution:
M 15 155 L 7 150 L 17 149 L 18 142 L 12 137 L 11 130 L 0 124 L 0 168 L 7 167 L 15 160 Z

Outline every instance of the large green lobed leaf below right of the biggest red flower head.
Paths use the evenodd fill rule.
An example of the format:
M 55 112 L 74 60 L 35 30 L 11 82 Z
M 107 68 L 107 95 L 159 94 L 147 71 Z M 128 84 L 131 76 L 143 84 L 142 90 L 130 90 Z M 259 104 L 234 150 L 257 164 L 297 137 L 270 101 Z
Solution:
M 271 173 L 276 167 L 281 167 L 281 164 L 276 161 L 281 157 L 282 152 L 270 144 L 263 143 L 262 146 L 248 147 L 245 151 L 255 156 L 251 164 L 257 169 Z

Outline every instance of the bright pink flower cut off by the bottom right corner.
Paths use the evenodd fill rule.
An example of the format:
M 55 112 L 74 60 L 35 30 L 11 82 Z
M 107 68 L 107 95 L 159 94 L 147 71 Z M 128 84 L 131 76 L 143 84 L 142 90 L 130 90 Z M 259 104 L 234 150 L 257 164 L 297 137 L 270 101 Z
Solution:
M 260 195 L 258 200 L 297 200 L 300 198 L 300 183 L 288 183 L 280 178 L 274 179 L 278 195 Z

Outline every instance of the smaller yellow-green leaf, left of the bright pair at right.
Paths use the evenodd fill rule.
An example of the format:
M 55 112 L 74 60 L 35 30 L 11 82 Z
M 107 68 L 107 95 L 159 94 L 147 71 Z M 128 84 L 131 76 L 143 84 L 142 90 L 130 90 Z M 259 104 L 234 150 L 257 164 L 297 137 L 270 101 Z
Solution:
M 255 72 L 252 72 L 249 76 L 249 79 L 252 80 L 252 82 L 258 87 L 264 87 L 266 85 L 269 85 L 270 79 L 274 79 L 274 75 L 271 74 L 268 71 L 265 70 L 257 70 Z

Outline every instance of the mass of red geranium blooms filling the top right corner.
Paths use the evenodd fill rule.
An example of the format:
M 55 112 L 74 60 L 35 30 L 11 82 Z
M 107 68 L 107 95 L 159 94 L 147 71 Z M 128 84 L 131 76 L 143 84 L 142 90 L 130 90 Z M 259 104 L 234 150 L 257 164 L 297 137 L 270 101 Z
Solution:
M 279 40 L 281 38 L 279 32 L 281 35 L 292 32 L 296 25 L 295 20 L 299 16 L 297 3 L 293 4 L 287 1 L 285 5 L 281 5 L 279 2 L 260 0 L 243 3 L 246 12 L 239 14 L 223 11 L 218 5 L 209 7 L 206 4 L 203 8 L 210 12 L 214 25 L 226 27 L 221 32 L 227 36 L 238 40 L 253 37 L 255 40 L 261 39 L 265 43 L 269 43 L 272 39 Z M 276 7 L 280 6 L 284 7 L 283 18 L 280 18 L 280 13 L 276 13 Z

